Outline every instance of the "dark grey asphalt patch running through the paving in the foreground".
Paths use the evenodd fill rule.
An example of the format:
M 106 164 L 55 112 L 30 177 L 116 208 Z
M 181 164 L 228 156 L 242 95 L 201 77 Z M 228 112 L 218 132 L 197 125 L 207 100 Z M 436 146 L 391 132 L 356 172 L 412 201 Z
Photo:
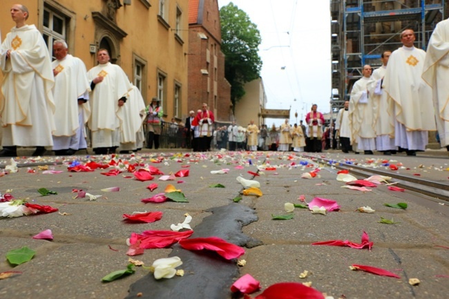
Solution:
M 240 247 L 256 247 L 262 242 L 242 233 L 242 226 L 258 220 L 254 209 L 241 204 L 229 204 L 207 210 L 213 213 L 195 226 L 191 238 L 218 237 Z M 238 278 L 236 260 L 225 260 L 212 251 L 187 251 L 178 244 L 170 256 L 179 256 L 184 276 L 155 280 L 153 273 L 131 284 L 131 298 L 157 299 L 227 299 L 231 298 L 231 284 Z

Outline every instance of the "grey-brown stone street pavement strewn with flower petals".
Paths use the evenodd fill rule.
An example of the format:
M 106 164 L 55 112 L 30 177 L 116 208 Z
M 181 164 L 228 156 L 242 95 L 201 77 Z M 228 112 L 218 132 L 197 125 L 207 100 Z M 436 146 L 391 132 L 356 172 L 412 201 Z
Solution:
M 349 161 L 366 165 L 367 169 L 375 165 L 392 171 L 382 166 L 385 156 L 381 155 L 337 152 L 319 155 L 342 164 Z M 405 175 L 449 183 L 447 158 L 396 155 L 386 159 L 398 164 L 397 171 Z M 74 161 L 83 165 L 88 160 L 100 164 L 117 162 L 117 165 L 92 172 L 68 171 Z M 10 164 L 9 159 L 0 161 L 0 167 Z M 336 168 L 317 164 L 300 154 L 146 151 L 114 158 L 22 157 L 17 162 L 30 164 L 31 168 L 22 166 L 17 173 L 6 171 L 8 174 L 0 177 L 0 193 L 10 193 L 15 199 L 49 205 L 59 211 L 0 218 L 0 272 L 21 272 L 0 280 L 0 298 L 243 298 L 233 295 L 229 288 L 247 273 L 260 281 L 261 291 L 278 282 L 311 282 L 314 289 L 334 299 L 443 299 L 449 293 L 447 202 L 407 190 L 390 191 L 385 184 L 368 187 L 370 191 L 365 192 L 344 189 L 341 186 L 345 183 L 336 180 Z M 161 175 L 155 175 L 154 180 L 140 182 L 133 173 L 126 171 L 127 165 L 123 162 L 136 164 L 136 169 L 151 165 L 165 175 L 188 169 L 189 175 L 167 181 L 158 180 Z M 40 168 L 35 163 L 39 163 Z M 115 176 L 102 175 L 118 168 L 124 172 Z M 46 174 L 49 170 L 62 172 Z M 312 171 L 317 174 L 315 177 L 301 177 Z M 0 169 L 1 173 L 5 170 Z M 241 195 L 242 184 L 236 180 L 240 175 L 260 182 L 262 196 Z M 151 192 L 146 187 L 153 183 L 158 187 Z M 181 189 L 189 202 L 144 204 L 140 201 L 164 192 L 168 184 Z M 214 184 L 225 188 L 212 188 Z M 120 187 L 120 191 L 102 191 L 115 186 Z M 56 191 L 57 195 L 41 196 L 37 192 L 40 188 Z M 102 196 L 96 200 L 74 198 L 77 193 L 73 193 L 73 189 Z M 233 202 L 238 196 L 242 196 L 242 200 Z M 326 215 L 299 208 L 292 213 L 285 211 L 287 202 L 305 204 L 314 197 L 335 200 L 339 211 Z M 305 198 L 305 202 L 300 198 Z M 407 203 L 408 208 L 384 206 L 399 202 Z M 370 206 L 375 212 L 359 213 L 356 209 L 361 206 Z M 122 215 L 135 211 L 162 211 L 163 215 L 161 220 L 148 224 L 124 222 Z M 246 260 L 246 265 L 239 267 L 237 260 L 225 261 L 216 253 L 186 252 L 173 245 L 173 252 L 171 247 L 146 249 L 142 255 L 132 258 L 150 266 L 158 258 L 180 253 L 185 259 L 178 269 L 184 269 L 184 276 L 156 281 L 148 269 L 135 267 L 133 275 L 108 283 L 101 281 L 108 273 L 126 269 L 129 258 L 126 239 L 131 233 L 170 230 L 171 224 L 184 220 L 185 213 L 193 218 L 191 238 L 218 236 L 238 244 L 245 249 L 239 260 Z M 272 219 L 273 215 L 289 214 L 293 215 L 291 220 Z M 381 217 L 397 223 L 379 223 Z M 52 231 L 53 240 L 32 238 L 46 229 Z M 327 240 L 359 243 L 363 231 L 373 242 L 371 250 L 312 245 Z M 6 260 L 6 253 L 24 246 L 36 252 L 34 257 L 12 267 Z M 351 271 L 352 264 L 386 269 L 400 278 Z M 212 274 L 203 271 L 206 267 L 213 269 Z M 300 278 L 305 270 L 309 271 L 307 277 Z M 421 282 L 412 286 L 410 278 Z M 258 293 L 260 291 L 251 297 Z

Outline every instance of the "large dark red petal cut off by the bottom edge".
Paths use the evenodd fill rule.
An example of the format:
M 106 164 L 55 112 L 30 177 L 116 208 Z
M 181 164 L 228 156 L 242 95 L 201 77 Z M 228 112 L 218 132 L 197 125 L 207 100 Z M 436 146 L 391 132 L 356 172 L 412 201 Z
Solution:
M 273 284 L 254 299 L 324 299 L 324 295 L 298 282 Z

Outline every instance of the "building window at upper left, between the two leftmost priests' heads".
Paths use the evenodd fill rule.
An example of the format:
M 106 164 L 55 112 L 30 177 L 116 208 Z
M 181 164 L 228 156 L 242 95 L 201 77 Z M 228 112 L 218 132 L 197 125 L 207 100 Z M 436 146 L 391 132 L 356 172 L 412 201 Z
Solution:
M 69 22 L 70 18 L 62 15 L 60 12 L 44 7 L 43 37 L 48 46 L 48 52 L 53 52 L 53 41 L 57 39 L 64 39 L 68 44 L 67 28 Z M 52 57 L 55 59 L 53 55 Z

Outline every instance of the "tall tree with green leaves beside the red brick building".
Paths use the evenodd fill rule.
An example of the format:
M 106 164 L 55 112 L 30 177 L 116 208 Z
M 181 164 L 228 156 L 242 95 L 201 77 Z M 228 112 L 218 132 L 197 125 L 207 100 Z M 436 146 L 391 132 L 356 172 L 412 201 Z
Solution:
M 231 84 L 232 110 L 245 95 L 245 83 L 258 79 L 262 59 L 258 46 L 262 39 L 256 24 L 252 23 L 246 12 L 232 2 L 220 8 L 222 44 L 225 54 L 225 77 Z

